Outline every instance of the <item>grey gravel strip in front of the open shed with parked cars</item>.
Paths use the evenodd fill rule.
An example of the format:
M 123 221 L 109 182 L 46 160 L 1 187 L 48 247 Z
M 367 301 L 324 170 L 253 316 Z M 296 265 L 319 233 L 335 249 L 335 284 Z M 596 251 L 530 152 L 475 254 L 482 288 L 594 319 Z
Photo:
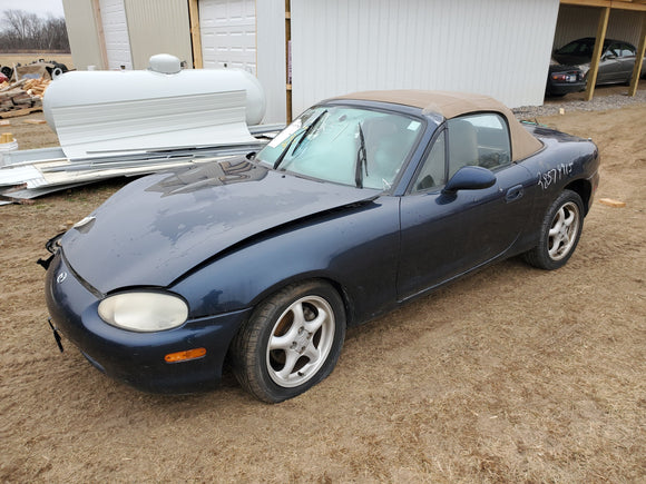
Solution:
M 642 81 L 640 85 L 646 85 L 646 81 Z M 542 106 L 521 106 L 512 111 L 518 119 L 534 119 L 558 115 L 559 109 L 564 109 L 565 112 L 606 111 L 646 102 L 646 88 L 637 90 L 635 97 L 627 96 L 627 90 L 626 86 L 601 87 L 595 89 L 595 97 L 590 101 L 584 100 L 584 92 L 577 92 L 562 98 L 546 98 Z

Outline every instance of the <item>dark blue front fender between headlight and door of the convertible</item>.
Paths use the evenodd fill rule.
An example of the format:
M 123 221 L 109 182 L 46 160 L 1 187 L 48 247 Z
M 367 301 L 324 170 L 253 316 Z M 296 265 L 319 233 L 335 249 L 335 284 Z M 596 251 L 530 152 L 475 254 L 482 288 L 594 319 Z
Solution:
M 383 197 L 264 234 L 205 263 L 172 289 L 204 317 L 255 306 L 287 284 L 325 278 L 341 288 L 349 323 L 395 303 L 399 198 Z

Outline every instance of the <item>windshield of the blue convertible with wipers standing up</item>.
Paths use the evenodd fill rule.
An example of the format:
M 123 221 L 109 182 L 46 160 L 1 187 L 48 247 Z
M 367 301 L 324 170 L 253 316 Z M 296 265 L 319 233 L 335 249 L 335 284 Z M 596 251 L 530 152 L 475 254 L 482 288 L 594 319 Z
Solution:
M 311 108 L 281 131 L 257 159 L 275 169 L 388 190 L 422 132 L 422 121 L 349 106 Z

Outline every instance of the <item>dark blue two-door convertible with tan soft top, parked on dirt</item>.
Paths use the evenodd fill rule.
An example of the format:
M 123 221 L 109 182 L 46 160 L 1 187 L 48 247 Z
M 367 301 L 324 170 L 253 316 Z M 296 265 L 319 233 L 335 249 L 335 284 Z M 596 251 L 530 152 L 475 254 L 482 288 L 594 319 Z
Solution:
M 591 141 L 488 97 L 330 99 L 260 152 L 138 179 L 51 239 L 50 325 L 138 388 L 209 388 L 226 360 L 281 402 L 332 372 L 346 326 L 515 255 L 566 264 L 598 167 Z

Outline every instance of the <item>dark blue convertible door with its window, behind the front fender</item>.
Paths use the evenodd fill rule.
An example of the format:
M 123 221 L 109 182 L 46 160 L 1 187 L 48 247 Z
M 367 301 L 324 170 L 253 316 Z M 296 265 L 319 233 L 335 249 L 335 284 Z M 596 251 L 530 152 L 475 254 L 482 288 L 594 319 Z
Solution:
M 519 237 L 531 208 L 525 191 L 534 179 L 510 162 L 509 147 L 499 115 L 449 120 L 435 136 L 400 201 L 400 300 L 503 255 Z M 495 185 L 443 192 L 447 180 L 468 165 L 491 169 Z

